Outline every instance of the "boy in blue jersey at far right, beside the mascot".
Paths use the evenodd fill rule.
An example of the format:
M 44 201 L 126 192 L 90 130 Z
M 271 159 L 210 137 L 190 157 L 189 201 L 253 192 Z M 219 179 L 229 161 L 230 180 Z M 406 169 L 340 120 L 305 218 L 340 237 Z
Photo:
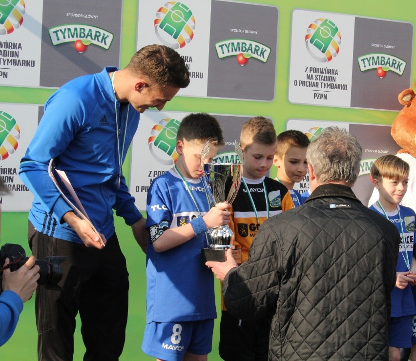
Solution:
M 415 212 L 399 205 L 407 191 L 409 164 L 389 154 L 374 161 L 370 174 L 379 193 L 378 201 L 370 209 L 393 222 L 402 239 L 396 266 L 397 279 L 391 294 L 389 333 L 390 360 L 400 360 L 400 348 L 412 345 L 412 316 L 416 314 L 411 287 L 416 284 L 416 260 L 413 256 Z

